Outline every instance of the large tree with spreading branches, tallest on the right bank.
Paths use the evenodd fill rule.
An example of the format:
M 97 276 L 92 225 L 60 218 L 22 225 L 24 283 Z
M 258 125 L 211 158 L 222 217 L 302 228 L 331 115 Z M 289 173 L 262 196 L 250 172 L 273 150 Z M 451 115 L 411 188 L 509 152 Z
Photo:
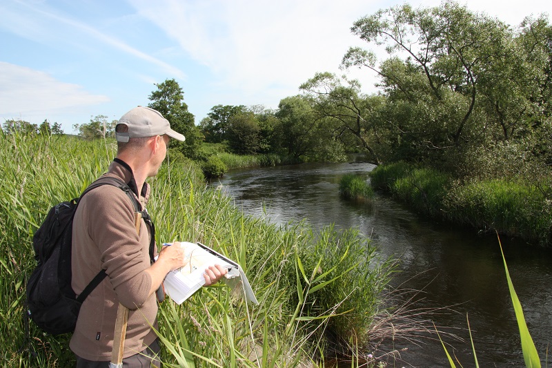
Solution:
M 379 10 L 351 30 L 391 55 L 377 65 L 374 52 L 350 48 L 343 66 L 380 75 L 387 118 L 406 157 L 434 160 L 526 134 L 542 72 L 531 62 L 535 52 L 520 46 L 501 21 L 444 1 L 435 8 Z

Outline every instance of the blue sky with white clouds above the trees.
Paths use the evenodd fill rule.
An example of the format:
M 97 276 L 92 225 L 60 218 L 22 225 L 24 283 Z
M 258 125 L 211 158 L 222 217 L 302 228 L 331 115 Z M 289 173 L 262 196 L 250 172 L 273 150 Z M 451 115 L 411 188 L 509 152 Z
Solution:
M 458 1 L 517 26 L 552 14 L 549 0 Z M 381 0 L 0 0 L 0 124 L 119 119 L 147 106 L 155 84 L 175 79 L 195 122 L 216 105 L 277 108 L 316 72 L 377 81 L 339 64 L 357 19 L 404 1 Z M 438 0 L 408 1 L 414 7 Z M 550 21 L 552 23 L 552 21 Z

